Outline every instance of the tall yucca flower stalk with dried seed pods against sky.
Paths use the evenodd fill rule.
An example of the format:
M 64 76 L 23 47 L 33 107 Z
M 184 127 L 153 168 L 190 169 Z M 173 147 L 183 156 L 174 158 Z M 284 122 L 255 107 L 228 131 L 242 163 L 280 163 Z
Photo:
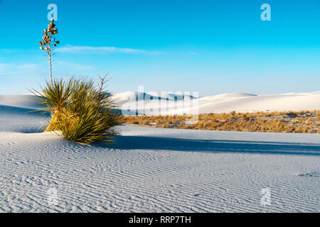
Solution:
M 52 80 L 52 67 L 51 67 L 51 62 L 52 62 L 52 54 L 51 52 L 55 49 L 53 47 L 56 47 L 57 44 L 60 43 L 60 41 L 55 40 L 54 35 L 58 34 L 58 29 L 55 28 L 55 23 L 53 18 L 51 19 L 51 22 L 48 24 L 48 28 L 43 31 L 43 41 L 39 42 L 40 44 L 40 49 L 41 50 L 46 50 L 46 53 L 49 58 L 49 69 L 50 69 L 50 83 L 51 85 L 53 84 Z

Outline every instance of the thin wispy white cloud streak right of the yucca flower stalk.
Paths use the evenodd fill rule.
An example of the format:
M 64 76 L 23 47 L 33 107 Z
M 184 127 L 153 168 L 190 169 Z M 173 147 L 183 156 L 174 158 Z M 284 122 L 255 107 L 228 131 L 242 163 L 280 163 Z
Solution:
M 159 52 L 138 50 L 131 48 L 114 48 L 114 47 L 91 47 L 91 46 L 74 46 L 65 45 L 62 48 L 57 48 L 57 52 L 70 52 L 70 53 L 80 53 L 80 52 L 113 52 L 113 53 L 129 53 L 129 54 L 144 54 L 144 55 L 157 55 Z

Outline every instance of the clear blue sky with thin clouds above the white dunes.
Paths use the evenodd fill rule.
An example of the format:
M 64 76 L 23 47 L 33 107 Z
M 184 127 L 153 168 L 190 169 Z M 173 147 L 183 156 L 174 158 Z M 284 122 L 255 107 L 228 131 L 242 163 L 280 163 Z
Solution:
M 320 90 L 320 1 L 0 0 L 0 94 L 48 79 L 39 49 L 58 6 L 53 76 L 110 72 L 112 92 L 200 96 Z M 262 4 L 272 21 L 262 21 Z

